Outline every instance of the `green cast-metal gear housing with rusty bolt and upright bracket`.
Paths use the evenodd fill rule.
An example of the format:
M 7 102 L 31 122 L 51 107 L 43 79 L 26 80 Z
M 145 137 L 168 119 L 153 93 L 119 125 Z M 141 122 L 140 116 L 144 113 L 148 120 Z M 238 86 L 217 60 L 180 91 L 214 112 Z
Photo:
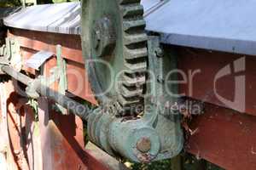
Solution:
M 139 162 L 170 158 L 183 149 L 180 114 L 172 107 L 177 105 L 177 98 L 167 93 L 171 89 L 177 94 L 177 84 L 164 81 L 177 68 L 176 57 L 169 52 L 164 54 L 159 37 L 150 37 L 148 51 L 150 74 L 143 117 L 116 117 L 111 110 L 99 107 L 88 120 L 88 135 L 93 143 L 112 156 Z M 176 76 L 172 74 L 170 78 L 176 80 Z

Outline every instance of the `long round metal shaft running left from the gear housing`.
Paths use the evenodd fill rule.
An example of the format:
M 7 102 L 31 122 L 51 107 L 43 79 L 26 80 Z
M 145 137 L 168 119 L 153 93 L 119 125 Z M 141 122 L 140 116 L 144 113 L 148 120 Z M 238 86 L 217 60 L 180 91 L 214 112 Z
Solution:
M 26 86 L 29 85 L 29 82 L 34 81 L 34 79 L 27 77 L 26 75 L 18 71 L 15 71 L 12 67 L 8 65 L 2 65 L 1 69 L 10 77 L 15 78 L 15 80 L 22 82 Z M 46 96 L 49 99 L 54 100 L 56 103 L 66 108 L 68 111 L 71 111 L 74 115 L 77 115 L 87 121 L 88 116 L 90 114 L 90 109 L 87 105 L 81 105 L 79 104 L 79 102 L 56 92 L 55 90 L 45 86 L 42 83 L 36 83 L 35 90 L 38 92 L 38 94 L 41 94 L 42 96 Z

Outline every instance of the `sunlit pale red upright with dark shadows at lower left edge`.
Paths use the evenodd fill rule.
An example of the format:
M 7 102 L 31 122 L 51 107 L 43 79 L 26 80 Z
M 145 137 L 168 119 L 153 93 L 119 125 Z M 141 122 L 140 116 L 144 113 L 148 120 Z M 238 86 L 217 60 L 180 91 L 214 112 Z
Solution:
M 41 165 L 41 150 L 40 139 L 38 138 L 38 124 L 34 122 L 34 114 L 32 108 L 28 105 L 27 99 L 24 99 L 20 94 L 15 93 L 15 88 L 18 88 L 16 82 L 5 82 L 2 84 L 6 92 L 6 109 L 7 116 L 7 145 L 6 159 L 9 169 L 42 169 Z M 3 102 L 3 98 L 1 98 Z M 1 105 L 1 113 L 4 106 Z M 1 133 L 1 139 L 4 134 Z M 20 138 L 21 137 L 21 138 Z M 35 148 L 38 150 L 35 151 Z

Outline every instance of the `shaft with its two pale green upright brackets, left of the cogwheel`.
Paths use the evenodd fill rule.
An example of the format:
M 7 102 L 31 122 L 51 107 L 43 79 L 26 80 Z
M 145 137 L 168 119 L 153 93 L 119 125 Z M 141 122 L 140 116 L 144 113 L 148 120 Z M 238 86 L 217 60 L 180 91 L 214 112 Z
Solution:
M 7 37 L 5 42 L 6 44 L 0 48 L 0 74 L 9 75 L 25 84 L 27 86 L 27 97 L 38 99 L 40 96 L 46 96 L 55 101 L 58 111 L 61 111 L 62 114 L 66 115 L 67 111 L 71 111 L 74 115 L 88 120 L 91 112 L 90 108 L 65 96 L 67 89 L 66 64 L 65 60 L 61 58 L 60 45 L 56 46 L 57 66 L 51 69 L 51 75 L 49 77 L 39 76 L 36 79 L 32 79 L 20 73 L 22 65 L 18 40 L 15 37 Z M 49 88 L 57 80 L 59 80 L 58 92 Z

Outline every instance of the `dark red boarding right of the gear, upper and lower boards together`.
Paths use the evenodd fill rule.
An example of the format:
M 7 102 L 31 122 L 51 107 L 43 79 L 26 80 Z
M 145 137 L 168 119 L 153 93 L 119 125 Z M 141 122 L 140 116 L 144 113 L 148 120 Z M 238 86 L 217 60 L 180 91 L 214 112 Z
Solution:
M 193 116 L 191 128 L 197 130 L 185 149 L 226 169 L 255 169 L 256 59 L 248 55 L 195 48 L 176 49 L 178 67 L 187 78 L 187 82 L 179 84 L 180 94 L 205 102 L 204 114 Z M 241 71 L 236 71 L 237 59 L 245 61 Z M 231 73 L 218 79 L 214 91 L 214 79 L 225 67 Z M 245 82 L 236 84 L 236 77 L 245 77 Z M 244 96 L 240 93 L 243 84 Z M 243 113 L 237 109 L 243 105 L 242 102 L 227 105 L 218 97 L 220 95 L 233 102 L 237 87 L 241 90 L 238 90 L 241 94 L 238 98 L 245 97 Z

